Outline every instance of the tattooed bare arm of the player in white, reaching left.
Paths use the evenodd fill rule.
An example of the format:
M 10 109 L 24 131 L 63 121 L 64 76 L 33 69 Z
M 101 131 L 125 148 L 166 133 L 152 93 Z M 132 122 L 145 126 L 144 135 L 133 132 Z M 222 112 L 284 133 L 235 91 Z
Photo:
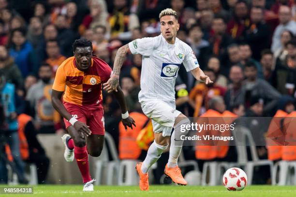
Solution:
M 131 53 L 128 44 L 121 46 L 117 51 L 117 54 L 114 59 L 113 74 L 111 78 L 105 84 L 103 84 L 104 90 L 107 91 L 108 93 L 117 91 L 117 86 L 119 84 L 120 69 L 122 67 L 122 64 L 124 62 L 124 59 L 127 53 Z

